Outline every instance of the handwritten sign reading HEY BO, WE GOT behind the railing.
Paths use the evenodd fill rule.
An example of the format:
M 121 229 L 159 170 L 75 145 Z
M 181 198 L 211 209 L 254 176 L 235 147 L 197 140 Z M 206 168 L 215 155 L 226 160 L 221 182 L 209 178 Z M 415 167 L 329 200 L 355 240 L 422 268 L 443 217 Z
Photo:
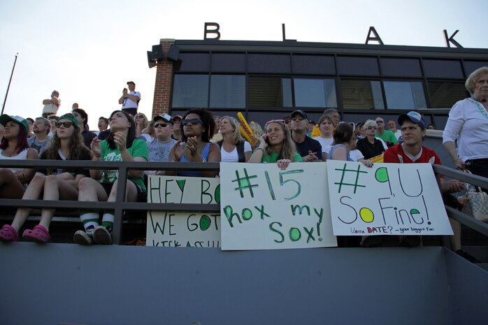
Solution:
M 220 203 L 219 178 L 148 178 L 148 203 Z M 148 211 L 146 245 L 220 247 L 218 212 Z

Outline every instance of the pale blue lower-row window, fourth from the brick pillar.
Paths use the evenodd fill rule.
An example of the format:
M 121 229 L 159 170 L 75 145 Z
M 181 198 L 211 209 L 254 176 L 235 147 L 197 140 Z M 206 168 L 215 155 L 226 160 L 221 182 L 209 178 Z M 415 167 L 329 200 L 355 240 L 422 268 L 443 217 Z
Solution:
M 296 107 L 337 107 L 336 83 L 332 79 L 294 79 Z

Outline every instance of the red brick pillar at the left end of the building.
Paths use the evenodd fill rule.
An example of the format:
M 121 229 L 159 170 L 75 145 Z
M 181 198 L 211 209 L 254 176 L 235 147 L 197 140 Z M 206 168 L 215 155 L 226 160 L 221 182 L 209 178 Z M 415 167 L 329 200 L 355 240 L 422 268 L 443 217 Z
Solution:
M 168 50 L 174 40 L 162 39 L 163 55 L 167 57 Z M 173 62 L 168 59 L 160 59 L 156 68 L 155 97 L 152 101 L 152 116 L 168 113 L 169 99 L 171 96 L 171 76 L 173 75 Z

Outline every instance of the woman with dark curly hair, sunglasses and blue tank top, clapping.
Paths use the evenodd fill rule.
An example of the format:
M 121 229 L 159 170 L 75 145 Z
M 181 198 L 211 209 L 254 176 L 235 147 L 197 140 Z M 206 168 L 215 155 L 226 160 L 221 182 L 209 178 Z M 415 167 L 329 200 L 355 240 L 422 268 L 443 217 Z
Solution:
M 188 110 L 181 121 L 181 140 L 169 154 L 168 161 L 220 162 L 220 147 L 210 143 L 215 131 L 212 113 L 203 108 Z M 166 171 L 166 175 L 215 177 L 217 171 Z

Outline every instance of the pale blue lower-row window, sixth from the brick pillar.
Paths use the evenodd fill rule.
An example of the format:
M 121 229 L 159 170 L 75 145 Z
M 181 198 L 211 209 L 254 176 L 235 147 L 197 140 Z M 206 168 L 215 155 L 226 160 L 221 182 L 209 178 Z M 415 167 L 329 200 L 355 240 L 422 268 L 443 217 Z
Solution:
M 424 89 L 419 81 L 385 81 L 387 107 L 401 110 L 426 108 Z

